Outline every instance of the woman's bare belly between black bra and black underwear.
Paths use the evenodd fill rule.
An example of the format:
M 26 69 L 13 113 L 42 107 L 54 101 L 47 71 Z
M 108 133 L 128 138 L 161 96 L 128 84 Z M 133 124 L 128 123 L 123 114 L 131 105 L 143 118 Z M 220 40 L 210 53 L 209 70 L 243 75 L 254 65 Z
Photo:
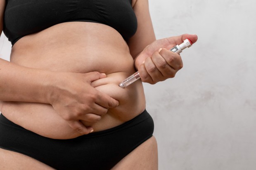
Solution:
M 107 78 L 97 80 L 96 88 L 119 100 L 119 106 L 109 109 L 97 123 L 84 122 L 95 131 L 118 126 L 145 109 L 140 80 L 127 88 L 119 87 L 135 72 L 134 61 L 121 34 L 105 24 L 64 22 L 26 35 L 14 44 L 10 61 L 57 72 L 105 73 Z M 3 102 L 1 111 L 14 123 L 46 137 L 68 139 L 81 135 L 48 104 Z

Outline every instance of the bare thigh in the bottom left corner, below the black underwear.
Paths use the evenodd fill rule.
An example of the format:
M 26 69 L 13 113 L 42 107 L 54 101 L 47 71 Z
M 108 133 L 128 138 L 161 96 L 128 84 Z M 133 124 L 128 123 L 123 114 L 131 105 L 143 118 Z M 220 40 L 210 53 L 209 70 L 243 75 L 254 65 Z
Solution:
M 0 170 L 54 170 L 29 156 L 0 148 Z

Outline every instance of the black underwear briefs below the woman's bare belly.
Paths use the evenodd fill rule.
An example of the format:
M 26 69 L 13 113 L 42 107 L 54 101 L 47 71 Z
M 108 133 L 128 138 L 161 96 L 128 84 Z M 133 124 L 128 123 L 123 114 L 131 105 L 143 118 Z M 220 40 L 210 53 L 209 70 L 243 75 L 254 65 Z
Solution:
M 0 115 L 0 147 L 19 152 L 57 170 L 109 170 L 152 137 L 154 122 L 145 110 L 114 128 L 56 140 L 40 136 Z

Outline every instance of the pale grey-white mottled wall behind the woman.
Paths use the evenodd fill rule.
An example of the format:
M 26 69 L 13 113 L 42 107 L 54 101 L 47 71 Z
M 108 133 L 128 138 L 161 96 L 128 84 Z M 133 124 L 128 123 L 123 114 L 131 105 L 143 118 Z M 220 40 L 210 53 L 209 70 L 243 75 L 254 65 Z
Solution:
M 157 39 L 192 33 L 176 77 L 145 84 L 159 170 L 256 169 L 256 1 L 149 0 Z M 4 43 L 3 43 L 4 42 Z M 0 57 L 8 60 L 7 38 Z

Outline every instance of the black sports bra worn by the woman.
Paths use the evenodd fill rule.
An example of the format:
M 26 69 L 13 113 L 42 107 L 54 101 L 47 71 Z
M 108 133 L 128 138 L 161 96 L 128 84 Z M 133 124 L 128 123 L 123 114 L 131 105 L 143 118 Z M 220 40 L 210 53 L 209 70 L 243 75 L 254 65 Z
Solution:
M 103 23 L 126 41 L 137 30 L 131 0 L 6 0 L 3 32 L 13 45 L 25 35 L 70 21 Z

